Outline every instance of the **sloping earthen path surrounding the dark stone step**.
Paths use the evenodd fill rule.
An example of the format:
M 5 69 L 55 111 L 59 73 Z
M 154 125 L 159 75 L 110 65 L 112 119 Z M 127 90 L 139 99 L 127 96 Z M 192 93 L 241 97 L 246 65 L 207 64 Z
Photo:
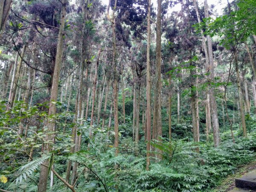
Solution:
M 245 173 L 251 172 L 254 169 L 256 169 L 256 161 L 250 162 L 247 165 L 239 166 L 234 174 L 229 175 L 225 180 L 221 181 L 221 183 L 212 192 L 242 192 L 240 189 L 236 190 L 235 177 L 241 177 Z

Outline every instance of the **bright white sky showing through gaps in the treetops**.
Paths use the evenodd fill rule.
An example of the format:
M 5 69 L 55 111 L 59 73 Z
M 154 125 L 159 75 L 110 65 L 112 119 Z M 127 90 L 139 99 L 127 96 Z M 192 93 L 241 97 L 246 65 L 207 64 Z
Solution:
M 231 0 L 232 1 L 232 0 Z M 105 5 L 108 5 L 109 0 L 102 0 L 102 3 Z M 151 0 L 151 3 L 153 3 L 154 8 L 157 7 L 157 0 Z M 199 6 L 202 6 L 204 4 L 204 0 L 198 0 Z M 222 14 L 222 9 L 227 5 L 227 0 L 208 0 L 208 5 L 215 5 L 214 10 L 218 13 L 218 15 Z M 172 9 L 170 9 L 168 12 L 172 11 L 179 11 L 180 10 L 180 4 L 175 5 Z

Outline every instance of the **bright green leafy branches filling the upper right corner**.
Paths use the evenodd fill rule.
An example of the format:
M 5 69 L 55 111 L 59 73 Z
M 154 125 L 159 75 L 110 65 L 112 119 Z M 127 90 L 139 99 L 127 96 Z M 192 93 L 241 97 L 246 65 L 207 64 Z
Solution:
M 239 0 L 238 9 L 229 15 L 205 18 L 200 25 L 195 25 L 198 32 L 205 30 L 205 34 L 221 37 L 220 44 L 230 49 L 236 44 L 246 41 L 249 35 L 256 34 L 256 2 L 255 0 Z

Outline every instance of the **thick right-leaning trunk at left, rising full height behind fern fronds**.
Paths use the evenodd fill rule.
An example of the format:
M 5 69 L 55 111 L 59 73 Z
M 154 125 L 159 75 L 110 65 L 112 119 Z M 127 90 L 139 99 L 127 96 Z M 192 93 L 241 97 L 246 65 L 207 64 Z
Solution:
M 55 60 L 55 67 L 54 67 L 54 74 L 53 74 L 53 82 L 52 82 L 52 89 L 51 89 L 51 101 L 56 101 L 58 97 L 58 81 L 59 81 L 59 75 L 60 75 L 60 69 L 61 69 L 61 58 L 62 58 L 62 52 L 63 52 L 63 36 L 64 36 L 64 24 L 65 24 L 65 15 L 66 15 L 66 4 L 67 0 L 61 0 L 61 19 L 60 19 L 60 27 L 58 32 L 58 44 L 57 44 L 57 52 L 56 52 L 56 60 Z M 54 103 L 50 103 L 49 105 L 49 115 L 56 113 L 56 106 Z M 47 122 L 48 131 L 52 132 L 54 131 L 55 122 L 52 120 L 48 120 Z M 51 143 L 53 141 L 54 137 L 52 134 L 48 134 L 47 140 Z M 49 151 L 51 151 L 52 146 L 49 144 L 46 148 Z M 45 161 L 44 164 L 48 164 L 48 161 Z M 39 183 L 38 183 L 38 192 L 46 192 L 47 190 L 47 177 L 48 177 L 48 168 L 45 166 L 41 166 L 41 172 L 39 177 Z

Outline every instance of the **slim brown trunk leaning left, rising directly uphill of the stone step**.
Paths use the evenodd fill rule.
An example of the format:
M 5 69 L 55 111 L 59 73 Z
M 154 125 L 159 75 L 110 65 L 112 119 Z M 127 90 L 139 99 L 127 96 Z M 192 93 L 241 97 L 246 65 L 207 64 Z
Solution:
M 242 90 L 241 90 L 241 80 L 240 80 L 240 74 L 239 74 L 239 69 L 238 69 L 237 53 L 235 55 L 235 65 L 236 65 L 236 78 L 237 78 L 236 82 L 237 82 L 237 87 L 238 87 L 238 92 L 239 92 L 241 122 L 242 122 L 244 137 L 247 137 L 246 123 L 245 123 L 245 116 L 244 116 L 244 103 L 243 103 L 244 99 L 243 99 Z

